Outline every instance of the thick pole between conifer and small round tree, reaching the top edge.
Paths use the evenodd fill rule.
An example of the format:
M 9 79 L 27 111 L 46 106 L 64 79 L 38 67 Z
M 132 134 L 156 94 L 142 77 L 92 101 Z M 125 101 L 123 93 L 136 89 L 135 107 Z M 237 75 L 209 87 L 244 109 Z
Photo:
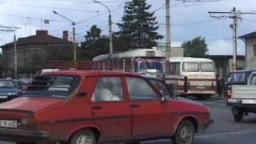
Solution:
M 170 0 L 166 0 L 166 58 L 170 58 Z

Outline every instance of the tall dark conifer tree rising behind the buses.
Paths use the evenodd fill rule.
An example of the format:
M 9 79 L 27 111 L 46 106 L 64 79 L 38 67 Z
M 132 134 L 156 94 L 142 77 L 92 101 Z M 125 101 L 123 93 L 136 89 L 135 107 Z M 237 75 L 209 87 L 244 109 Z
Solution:
M 157 40 L 163 38 L 158 34 L 154 12 L 150 13 L 150 5 L 146 0 L 128 2 L 122 22 L 118 23 L 120 30 L 116 33 L 122 38 L 122 46 L 126 49 L 152 48 L 157 46 Z

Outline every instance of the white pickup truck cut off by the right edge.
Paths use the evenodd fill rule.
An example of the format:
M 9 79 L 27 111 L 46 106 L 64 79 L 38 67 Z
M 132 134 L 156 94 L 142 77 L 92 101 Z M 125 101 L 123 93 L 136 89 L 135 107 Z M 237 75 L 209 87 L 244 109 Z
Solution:
M 243 116 L 249 113 L 256 114 L 256 72 L 250 74 L 247 85 L 232 86 L 227 106 L 232 106 L 235 122 L 242 121 Z

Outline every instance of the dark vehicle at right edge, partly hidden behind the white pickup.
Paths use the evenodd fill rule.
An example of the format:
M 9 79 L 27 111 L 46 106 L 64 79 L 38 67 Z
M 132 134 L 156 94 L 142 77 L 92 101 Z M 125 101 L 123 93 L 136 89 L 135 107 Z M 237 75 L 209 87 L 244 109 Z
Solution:
M 245 70 L 236 70 L 231 72 L 225 82 L 224 94 L 226 95 L 226 98 L 230 98 L 232 85 L 246 85 L 249 75 L 254 71 L 256 71 L 256 68 L 248 68 Z

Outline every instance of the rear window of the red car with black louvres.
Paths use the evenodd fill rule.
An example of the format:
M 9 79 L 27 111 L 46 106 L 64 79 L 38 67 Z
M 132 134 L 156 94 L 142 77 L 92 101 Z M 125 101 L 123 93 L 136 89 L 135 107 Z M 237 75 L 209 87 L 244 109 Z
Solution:
M 39 76 L 22 96 L 66 98 L 77 88 L 79 79 L 67 75 Z

